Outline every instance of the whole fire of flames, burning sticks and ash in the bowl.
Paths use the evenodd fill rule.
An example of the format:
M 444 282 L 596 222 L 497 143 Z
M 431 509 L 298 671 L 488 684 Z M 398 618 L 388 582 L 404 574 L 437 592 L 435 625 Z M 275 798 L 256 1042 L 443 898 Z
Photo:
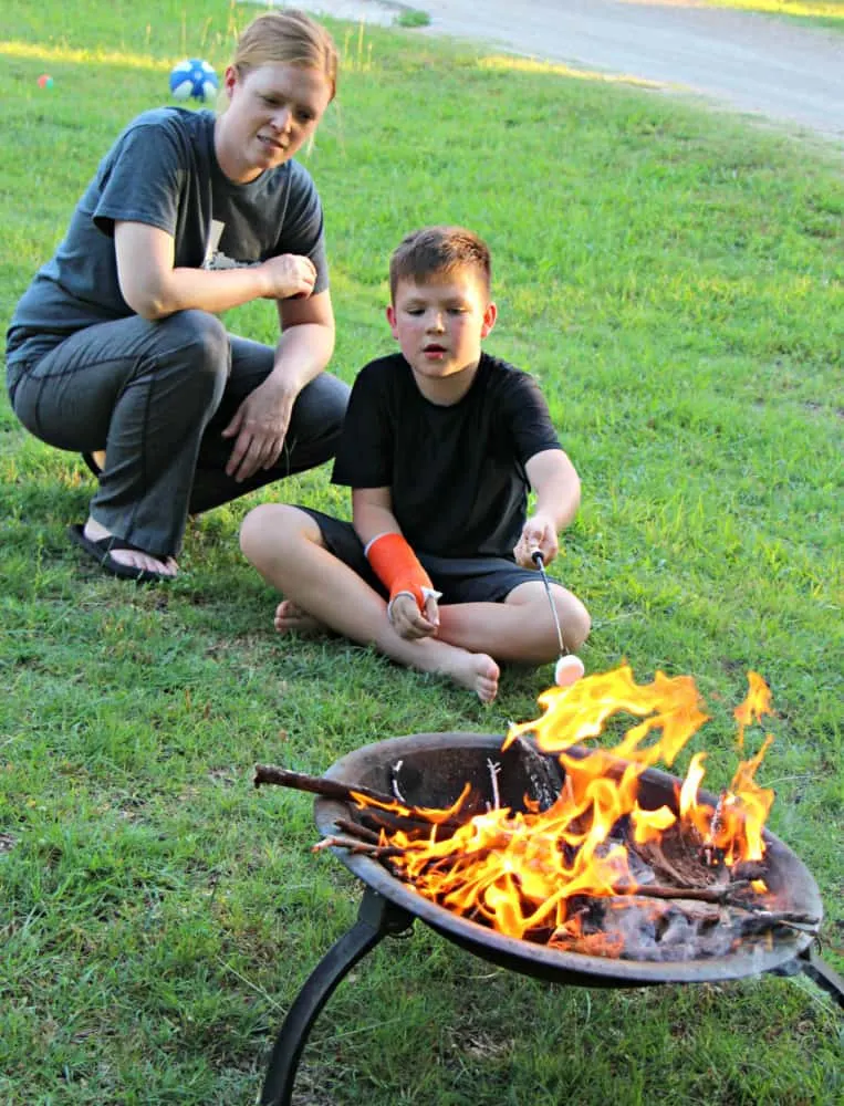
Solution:
M 771 713 L 764 682 L 753 672 L 749 680 L 734 712 L 740 745 L 746 728 Z M 525 796 L 524 810 L 496 802 L 466 813 L 468 784 L 447 810 L 350 789 L 358 816 L 338 828 L 352 839 L 321 844 L 371 853 L 419 895 L 506 936 L 588 954 L 721 956 L 749 935 L 814 921 L 778 912 L 767 894 L 762 827 L 773 792 L 754 774 L 770 737 L 717 804 L 699 799 L 706 754 L 697 753 L 674 807 L 652 810 L 640 805 L 642 773 L 670 765 L 708 721 L 690 677 L 657 672 L 639 686 L 622 666 L 539 701 L 543 716 L 511 727 L 502 752 L 531 734 L 559 759 L 564 783 L 546 808 Z M 614 748 L 584 751 L 621 713 L 640 721 Z M 489 771 L 497 795 L 491 760 Z

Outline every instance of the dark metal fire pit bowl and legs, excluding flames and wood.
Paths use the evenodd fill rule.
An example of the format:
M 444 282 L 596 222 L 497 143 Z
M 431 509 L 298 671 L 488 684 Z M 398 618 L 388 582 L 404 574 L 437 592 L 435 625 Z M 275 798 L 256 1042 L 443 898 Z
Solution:
M 404 765 L 403 793 L 419 805 L 448 806 L 467 778 L 477 783 L 487 760 L 502 762 L 501 780 L 507 791 L 504 805 L 518 806 L 522 796 L 542 793 L 550 786 L 548 772 L 559 772 L 553 758 L 546 766 L 538 762 L 535 750 L 525 758 L 524 748 L 511 747 L 501 753 L 501 737 L 472 733 L 418 733 L 367 745 L 337 761 L 326 773 L 348 784 L 388 789 L 395 782 L 397 764 Z M 508 763 L 509 762 L 509 763 Z M 482 768 L 481 768 L 482 765 Z M 431 779 L 433 778 L 433 779 Z M 648 770 L 643 778 L 659 804 L 674 793 L 675 780 Z M 480 807 L 482 808 L 482 806 Z M 354 817 L 354 808 L 334 800 L 314 803 L 317 827 L 334 830 L 337 817 Z M 821 915 L 821 900 L 812 876 L 794 854 L 773 834 L 765 842 L 774 879 L 794 901 Z M 794 975 L 801 971 L 844 1006 L 844 980 L 813 949 L 814 936 L 794 932 L 760 954 L 737 952 L 727 957 L 689 962 L 637 962 L 607 960 L 532 945 L 504 937 L 477 922 L 468 921 L 424 899 L 396 879 L 377 860 L 332 848 L 335 856 L 365 885 L 357 920 L 323 957 L 294 1000 L 275 1040 L 261 1092 L 260 1106 L 290 1106 L 299 1062 L 325 1003 L 352 968 L 385 937 L 397 937 L 420 918 L 456 945 L 486 960 L 522 974 L 581 987 L 647 987 L 671 982 L 706 982 L 771 972 Z

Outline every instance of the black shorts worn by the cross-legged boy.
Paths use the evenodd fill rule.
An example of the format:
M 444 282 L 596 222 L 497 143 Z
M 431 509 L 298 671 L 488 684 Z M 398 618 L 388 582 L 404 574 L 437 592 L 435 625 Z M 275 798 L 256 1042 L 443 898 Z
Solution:
M 353 568 L 358 576 L 386 599 L 387 589 L 369 567 L 364 547 L 351 522 L 343 522 L 322 511 L 296 504 L 310 514 L 322 533 L 330 553 Z M 539 581 L 533 568 L 522 568 L 513 561 L 500 556 L 441 557 L 417 553 L 419 561 L 438 592 L 440 604 L 449 603 L 503 603 L 519 584 Z

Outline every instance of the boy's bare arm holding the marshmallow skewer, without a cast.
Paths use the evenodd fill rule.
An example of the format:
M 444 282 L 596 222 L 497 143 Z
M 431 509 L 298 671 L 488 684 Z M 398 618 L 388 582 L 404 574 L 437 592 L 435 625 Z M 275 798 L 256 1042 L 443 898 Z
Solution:
M 545 564 L 560 552 L 558 533 L 572 522 L 581 502 L 581 481 L 562 449 L 544 449 L 524 466 L 536 502 L 513 550 L 519 564 L 532 567 L 531 553 L 541 550 Z

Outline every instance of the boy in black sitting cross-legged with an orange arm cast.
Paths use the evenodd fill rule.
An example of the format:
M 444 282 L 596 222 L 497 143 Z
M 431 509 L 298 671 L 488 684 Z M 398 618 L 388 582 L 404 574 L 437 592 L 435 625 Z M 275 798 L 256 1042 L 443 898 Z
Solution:
M 545 664 L 559 644 L 531 553 L 545 563 L 580 480 L 527 373 L 481 352 L 496 323 L 487 246 L 460 227 L 408 234 L 390 259 L 387 321 L 400 354 L 354 383 L 334 462 L 353 522 L 265 503 L 241 549 L 286 598 L 275 628 L 329 627 L 490 702 L 498 661 Z M 528 490 L 535 510 L 525 521 Z M 583 604 L 551 585 L 566 648 Z

